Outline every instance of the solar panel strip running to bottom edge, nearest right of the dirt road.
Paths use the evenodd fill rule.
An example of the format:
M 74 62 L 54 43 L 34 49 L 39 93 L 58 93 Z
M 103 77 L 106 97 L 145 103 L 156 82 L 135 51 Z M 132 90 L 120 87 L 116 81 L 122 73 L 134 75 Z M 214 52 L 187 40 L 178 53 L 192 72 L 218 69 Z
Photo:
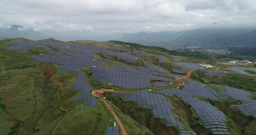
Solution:
M 139 91 L 133 93 L 113 93 L 113 96 L 124 97 L 125 99 L 137 102 L 138 106 L 144 109 L 151 109 L 154 118 L 165 119 L 168 126 L 178 127 L 182 134 L 196 134 L 195 132 L 186 131 L 182 123 L 176 121 L 172 113 L 174 107 L 163 95 Z

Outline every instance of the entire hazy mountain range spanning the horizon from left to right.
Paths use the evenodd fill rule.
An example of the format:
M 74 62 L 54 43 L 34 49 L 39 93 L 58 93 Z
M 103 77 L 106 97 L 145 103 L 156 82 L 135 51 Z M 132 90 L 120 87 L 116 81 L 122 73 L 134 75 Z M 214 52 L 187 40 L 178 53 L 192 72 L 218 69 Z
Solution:
M 87 31 L 34 31 L 21 25 L 10 25 L 0 29 L 0 39 L 28 38 L 33 40 L 56 38 L 59 40 L 122 40 L 124 42 L 156 44 L 205 44 L 212 46 L 256 46 L 256 29 L 192 29 L 183 31 L 160 31 L 155 33 L 139 32 L 135 34 L 102 34 Z

